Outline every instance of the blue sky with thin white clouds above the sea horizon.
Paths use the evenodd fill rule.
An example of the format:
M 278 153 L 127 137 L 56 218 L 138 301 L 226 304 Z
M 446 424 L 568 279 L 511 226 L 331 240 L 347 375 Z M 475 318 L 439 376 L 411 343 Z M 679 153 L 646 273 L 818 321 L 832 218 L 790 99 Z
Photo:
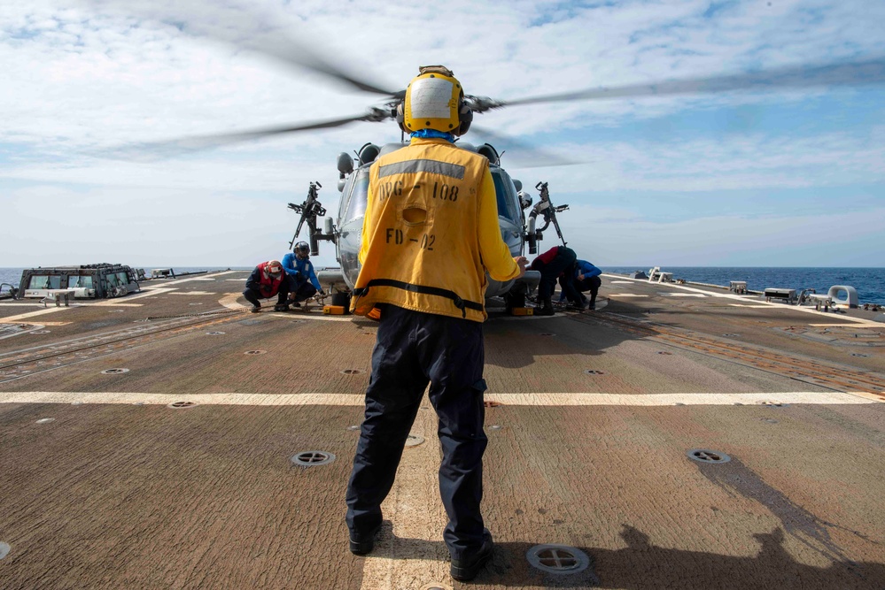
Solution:
M 395 122 L 164 157 L 138 146 L 384 102 L 273 55 L 292 48 L 383 88 L 443 64 L 468 94 L 507 101 L 881 61 L 882 22 L 885 3 L 863 0 L 3 3 L 0 267 L 283 257 L 287 203 L 319 181 L 334 216 L 338 154 L 399 141 Z M 881 70 L 852 85 L 513 105 L 474 123 L 505 135 L 501 164 L 535 201 L 546 181 L 569 204 L 565 239 L 594 264 L 885 266 Z M 527 166 L 532 147 L 579 163 Z M 554 245 L 547 232 L 540 251 Z M 314 263 L 336 264 L 330 243 Z

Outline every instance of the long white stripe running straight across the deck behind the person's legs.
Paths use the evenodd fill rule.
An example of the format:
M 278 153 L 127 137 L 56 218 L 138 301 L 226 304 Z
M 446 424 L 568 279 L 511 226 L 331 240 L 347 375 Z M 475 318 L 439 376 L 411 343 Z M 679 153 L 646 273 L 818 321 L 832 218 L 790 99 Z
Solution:
M 109 376 L 108 379 L 114 379 Z M 773 392 L 752 394 L 486 394 L 486 401 L 508 406 L 730 406 L 769 403 L 808 403 L 811 405 L 874 403 L 865 392 Z M 0 403 L 136 403 L 167 405 L 195 402 L 200 405 L 236 406 L 361 406 L 363 394 L 146 394 L 129 392 L 0 392 Z M 426 404 L 425 404 L 426 405 Z M 422 410 L 426 411 L 426 410 Z M 435 431 L 432 431 L 435 432 Z M 426 437 L 425 437 L 426 438 Z

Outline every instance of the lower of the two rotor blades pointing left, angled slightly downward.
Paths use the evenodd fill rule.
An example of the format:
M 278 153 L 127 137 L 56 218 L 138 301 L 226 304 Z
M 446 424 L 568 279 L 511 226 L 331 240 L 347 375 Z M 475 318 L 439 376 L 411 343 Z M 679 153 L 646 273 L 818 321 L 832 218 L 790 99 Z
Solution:
M 330 119 L 327 121 L 314 121 L 294 126 L 264 127 L 251 131 L 238 131 L 230 134 L 194 135 L 166 142 L 145 142 L 121 146 L 119 148 L 105 149 L 92 152 L 97 157 L 111 157 L 114 159 L 127 159 L 136 161 L 154 161 L 162 157 L 178 156 L 203 149 L 219 148 L 224 145 L 248 142 L 250 140 L 273 137 L 274 135 L 299 133 L 301 131 L 313 131 L 315 129 L 330 129 L 344 126 L 355 121 L 371 121 L 371 115 L 358 115 L 345 119 Z

